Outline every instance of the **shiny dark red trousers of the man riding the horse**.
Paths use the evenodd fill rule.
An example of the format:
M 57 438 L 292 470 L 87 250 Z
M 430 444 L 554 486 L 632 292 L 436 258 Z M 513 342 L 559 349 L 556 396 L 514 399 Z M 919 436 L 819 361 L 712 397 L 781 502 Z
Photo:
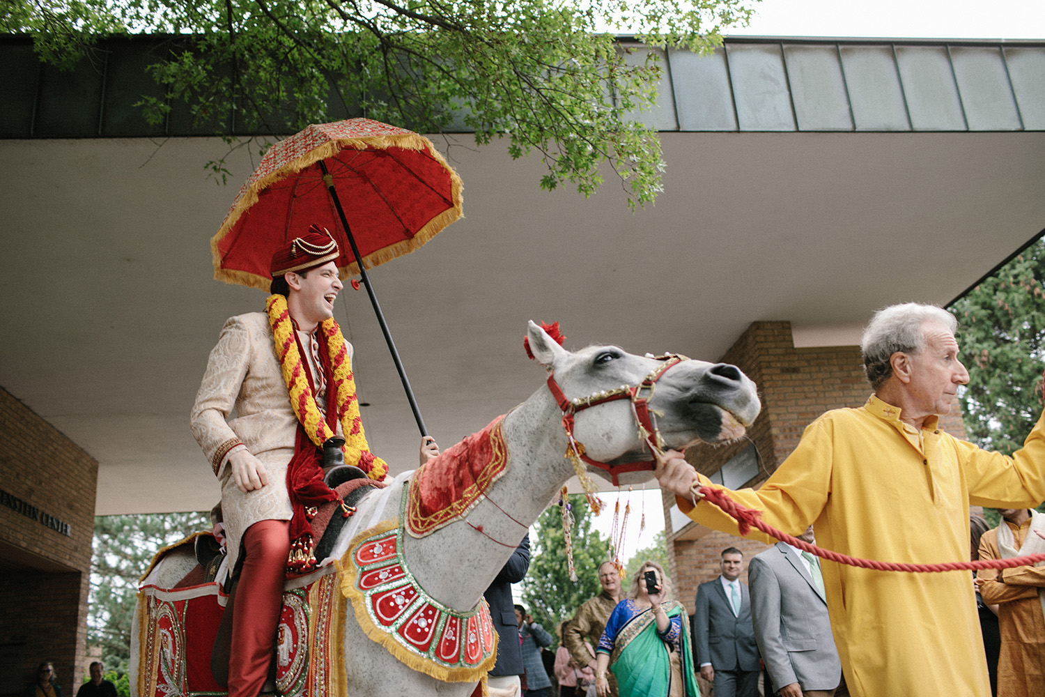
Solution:
M 229 697 L 258 697 L 276 649 L 289 520 L 259 520 L 243 533 L 229 655 Z

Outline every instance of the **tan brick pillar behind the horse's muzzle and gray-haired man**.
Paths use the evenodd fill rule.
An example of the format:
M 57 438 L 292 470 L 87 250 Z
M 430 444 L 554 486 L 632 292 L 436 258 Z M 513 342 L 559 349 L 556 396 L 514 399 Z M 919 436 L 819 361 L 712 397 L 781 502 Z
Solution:
M 769 478 L 816 417 L 832 409 L 860 406 L 870 395 L 859 347 L 795 348 L 790 322 L 751 324 L 721 361 L 736 365 L 754 380 L 762 399 L 762 413 L 747 434 L 761 459 L 759 474 L 746 483 L 748 487 L 758 488 Z M 940 425 L 958 438 L 966 437 L 957 400 Z M 687 460 L 701 473 L 712 474 L 747 445 L 746 440 L 722 447 L 697 445 L 687 451 Z M 670 520 L 668 510 L 674 497 L 665 496 L 664 503 L 665 519 Z M 745 560 L 766 549 L 761 542 L 719 532 L 696 540 L 676 540 L 676 536 L 675 531 L 668 536 L 672 578 L 677 597 L 688 605 L 698 584 L 718 576 L 723 549 L 737 547 Z M 746 578 L 745 564 L 745 582 Z

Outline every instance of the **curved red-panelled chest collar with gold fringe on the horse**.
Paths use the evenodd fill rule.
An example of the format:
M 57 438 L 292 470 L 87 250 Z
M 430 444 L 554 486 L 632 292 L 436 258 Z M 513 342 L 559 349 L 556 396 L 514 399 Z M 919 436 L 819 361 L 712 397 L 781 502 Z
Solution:
M 399 519 L 408 499 L 409 491 Z M 419 673 L 444 682 L 481 680 L 497 657 L 489 606 L 480 600 L 461 612 L 426 594 L 403 558 L 402 530 L 397 520 L 365 530 L 339 563 L 341 589 L 356 621 L 367 636 Z

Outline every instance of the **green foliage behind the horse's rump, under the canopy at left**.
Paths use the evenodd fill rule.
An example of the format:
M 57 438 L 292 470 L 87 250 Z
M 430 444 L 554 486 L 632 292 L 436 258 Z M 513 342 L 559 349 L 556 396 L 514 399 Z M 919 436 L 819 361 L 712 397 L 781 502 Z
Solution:
M 121 675 L 127 672 L 138 580 L 153 557 L 162 548 L 210 527 L 206 513 L 99 515 L 94 518 L 87 645 L 89 649 L 101 648 L 106 668 Z M 119 691 L 120 683 L 114 682 Z M 120 695 L 122 697 L 123 693 Z

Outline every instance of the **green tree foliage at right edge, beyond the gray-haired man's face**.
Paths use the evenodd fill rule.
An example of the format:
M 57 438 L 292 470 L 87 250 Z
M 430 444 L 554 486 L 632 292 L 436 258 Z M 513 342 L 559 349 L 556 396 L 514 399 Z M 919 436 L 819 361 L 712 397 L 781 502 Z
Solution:
M 958 318 L 970 440 L 1011 454 L 1042 411 L 1045 240 L 1039 239 L 949 307 Z

